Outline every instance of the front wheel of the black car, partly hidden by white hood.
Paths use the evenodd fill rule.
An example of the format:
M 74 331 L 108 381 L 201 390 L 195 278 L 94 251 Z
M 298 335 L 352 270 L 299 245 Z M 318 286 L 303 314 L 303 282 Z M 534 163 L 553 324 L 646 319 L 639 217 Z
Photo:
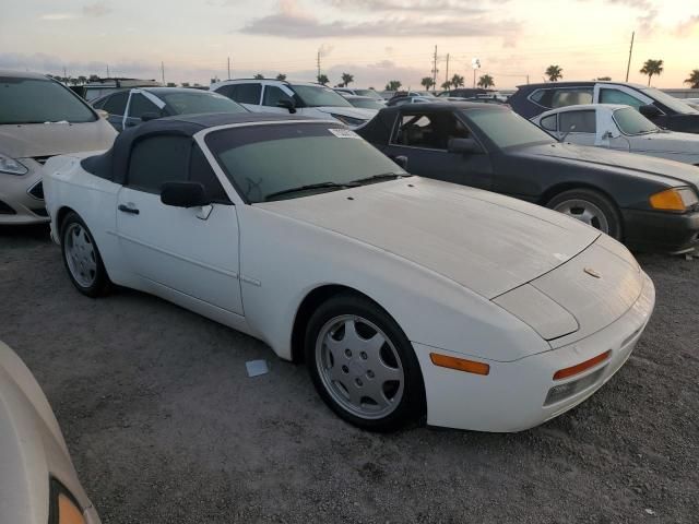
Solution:
M 614 202 L 597 191 L 591 189 L 564 191 L 546 205 L 621 240 L 619 212 Z

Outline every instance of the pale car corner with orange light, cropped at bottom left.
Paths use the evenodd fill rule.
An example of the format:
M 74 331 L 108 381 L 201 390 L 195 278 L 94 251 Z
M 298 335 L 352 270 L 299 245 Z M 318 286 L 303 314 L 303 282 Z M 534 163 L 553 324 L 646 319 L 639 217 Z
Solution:
M 0 342 L 0 522 L 99 524 L 51 407 L 20 357 Z

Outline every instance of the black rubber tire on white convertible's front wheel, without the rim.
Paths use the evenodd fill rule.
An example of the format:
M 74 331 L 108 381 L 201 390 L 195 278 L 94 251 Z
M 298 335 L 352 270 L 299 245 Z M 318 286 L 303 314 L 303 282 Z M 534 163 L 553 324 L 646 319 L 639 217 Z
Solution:
M 327 385 L 323 378 L 321 378 L 323 364 L 320 361 L 322 359 L 319 360 L 317 357 L 318 352 L 320 350 L 322 353 L 323 350 L 317 350 L 319 336 L 322 336 L 321 330 L 325 330 L 324 326 L 336 319 L 348 315 L 354 317 L 358 321 L 356 326 L 359 329 L 369 329 L 368 324 L 362 323 L 362 320 L 369 321 L 369 323 L 378 327 L 382 332 L 381 335 L 389 341 L 381 346 L 377 355 L 381 355 L 382 352 L 390 352 L 389 355 L 391 358 L 398 357 L 394 362 L 402 371 L 402 394 L 400 401 L 395 401 L 395 397 L 393 398 L 394 404 L 391 404 L 393 410 L 380 418 L 366 418 L 348 410 L 333 397 L 333 394 L 337 394 L 337 386 L 334 385 L 336 382 Z M 359 330 L 357 333 L 358 332 Z M 359 333 L 359 335 L 363 336 L 362 333 Z M 340 343 L 342 342 L 344 342 L 344 335 Z M 321 344 L 320 347 L 328 346 Z M 367 298 L 353 294 L 342 294 L 323 302 L 311 315 L 306 327 L 305 353 L 308 370 L 318 394 L 335 414 L 350 424 L 369 431 L 386 432 L 394 431 L 411 422 L 419 422 L 424 418 L 426 413 L 425 386 L 419 362 L 413 346 L 395 321 L 383 309 Z M 362 354 L 364 358 L 367 358 L 364 352 L 362 352 Z M 400 361 L 398 361 L 398 359 L 400 359 Z M 355 357 L 354 360 L 358 360 L 358 358 Z M 340 362 L 336 364 L 340 366 Z M 350 364 L 350 366 L 353 365 Z M 368 366 L 371 365 L 369 364 Z M 352 372 L 354 371 L 351 371 L 351 373 Z M 371 370 L 366 372 L 371 373 L 371 377 L 374 377 Z M 325 376 L 327 373 L 328 371 L 324 372 Z M 352 377 L 352 374 L 347 377 Z M 364 376 L 362 377 L 364 378 Z M 348 380 L 352 382 L 357 379 L 350 378 Z M 390 381 L 377 383 L 381 384 L 380 388 L 383 392 L 387 384 L 389 384 L 390 388 Z M 367 382 L 366 385 L 369 385 L 369 383 Z M 329 388 L 334 389 L 335 393 L 332 393 Z

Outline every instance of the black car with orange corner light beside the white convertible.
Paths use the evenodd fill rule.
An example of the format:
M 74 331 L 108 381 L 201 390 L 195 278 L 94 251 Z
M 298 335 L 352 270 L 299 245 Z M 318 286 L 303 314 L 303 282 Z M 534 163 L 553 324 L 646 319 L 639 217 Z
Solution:
M 630 153 L 561 144 L 506 106 L 387 107 L 357 130 L 410 172 L 535 202 L 637 249 L 699 245 L 699 170 Z

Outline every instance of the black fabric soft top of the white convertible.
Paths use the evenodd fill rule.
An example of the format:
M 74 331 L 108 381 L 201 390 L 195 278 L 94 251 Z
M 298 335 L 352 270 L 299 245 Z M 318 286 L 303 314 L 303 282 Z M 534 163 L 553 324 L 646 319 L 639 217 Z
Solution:
M 279 122 L 284 120 L 308 120 L 307 117 L 293 115 L 264 115 L 256 112 L 211 112 L 204 115 L 179 115 L 176 117 L 150 120 L 120 133 L 110 150 L 102 155 L 83 158 L 81 166 L 96 177 L 106 178 L 116 183 L 125 183 L 129 167 L 129 156 L 133 144 L 144 136 L 169 134 L 193 136 L 202 129 L 228 126 L 233 123 Z

